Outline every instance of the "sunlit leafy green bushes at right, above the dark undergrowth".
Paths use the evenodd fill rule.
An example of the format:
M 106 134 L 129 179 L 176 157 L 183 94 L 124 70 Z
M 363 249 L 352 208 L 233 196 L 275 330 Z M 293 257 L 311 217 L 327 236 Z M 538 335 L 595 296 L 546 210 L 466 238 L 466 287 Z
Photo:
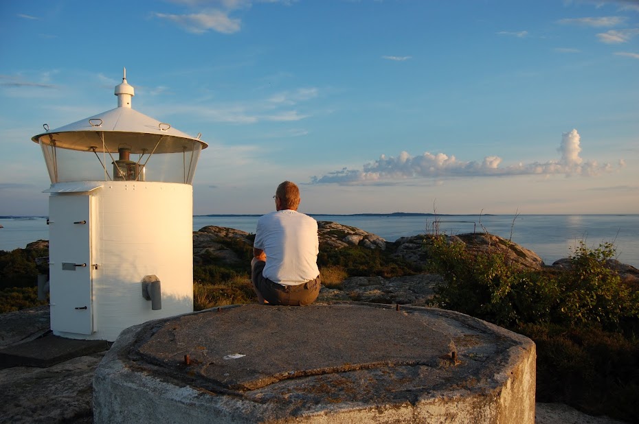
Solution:
M 590 249 L 582 242 L 563 272 L 522 270 L 501 246 L 473 253 L 444 235 L 435 236 L 429 249 L 434 272 L 445 280 L 435 290 L 440 307 L 504 326 L 554 322 L 620 330 L 639 318 L 639 292 L 609 267 L 615 252 L 609 243 Z

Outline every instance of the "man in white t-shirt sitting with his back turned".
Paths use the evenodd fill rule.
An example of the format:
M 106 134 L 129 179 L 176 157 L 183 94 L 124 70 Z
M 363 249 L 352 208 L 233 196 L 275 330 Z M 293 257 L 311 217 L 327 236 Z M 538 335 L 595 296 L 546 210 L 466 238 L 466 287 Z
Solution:
M 278 185 L 276 212 L 262 215 L 253 244 L 251 281 L 258 302 L 310 305 L 320 294 L 317 221 L 298 212 L 300 189 L 290 181 Z

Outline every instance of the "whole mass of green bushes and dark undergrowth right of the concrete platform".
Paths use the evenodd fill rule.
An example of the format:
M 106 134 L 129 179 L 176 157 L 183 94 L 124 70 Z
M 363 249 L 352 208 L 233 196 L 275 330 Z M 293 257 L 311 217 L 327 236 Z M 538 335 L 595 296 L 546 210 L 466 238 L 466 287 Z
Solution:
M 473 252 L 435 235 L 431 266 L 444 281 L 433 305 L 523 333 L 537 344 L 537 401 L 634 422 L 639 416 L 639 287 L 614 269 L 614 246 L 582 242 L 563 270 L 530 270 L 507 246 Z M 633 400 L 634 399 L 634 400 Z

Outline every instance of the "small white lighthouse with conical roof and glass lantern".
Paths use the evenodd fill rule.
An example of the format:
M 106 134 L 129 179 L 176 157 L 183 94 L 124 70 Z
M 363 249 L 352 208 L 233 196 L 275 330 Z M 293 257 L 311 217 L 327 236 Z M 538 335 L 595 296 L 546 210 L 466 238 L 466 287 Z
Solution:
M 117 108 L 32 137 L 49 195 L 51 329 L 113 341 L 147 320 L 193 311 L 192 180 L 198 137 L 131 108 Z

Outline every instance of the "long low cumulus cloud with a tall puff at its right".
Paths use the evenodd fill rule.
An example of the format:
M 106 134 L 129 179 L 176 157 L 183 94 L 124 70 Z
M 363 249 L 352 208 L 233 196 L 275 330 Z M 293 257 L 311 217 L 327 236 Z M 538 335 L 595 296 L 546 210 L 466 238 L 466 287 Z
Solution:
M 363 165 L 361 170 L 342 168 L 324 176 L 313 176 L 311 183 L 380 184 L 409 178 L 549 176 L 555 174 L 596 176 L 614 171 L 615 167 L 609 163 L 599 165 L 596 161 L 584 161 L 580 156 L 580 141 L 581 137 L 577 130 L 565 132 L 557 149 L 561 154 L 559 161 L 528 164 L 520 162 L 506 167 L 500 166 L 502 158 L 499 156 L 486 156 L 482 161 L 467 162 L 458 161 L 455 156 L 448 156 L 444 153 L 425 152 L 420 156 L 410 156 L 407 152 L 401 152 L 397 157 L 381 155 L 377 161 Z M 618 166 L 623 167 L 623 163 Z

